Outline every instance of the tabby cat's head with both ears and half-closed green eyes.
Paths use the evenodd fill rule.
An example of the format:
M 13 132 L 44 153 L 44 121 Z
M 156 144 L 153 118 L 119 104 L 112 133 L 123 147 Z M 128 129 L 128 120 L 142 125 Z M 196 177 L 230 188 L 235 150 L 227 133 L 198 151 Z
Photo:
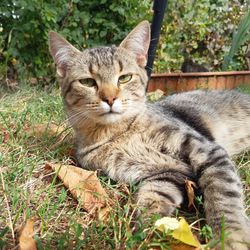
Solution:
M 137 25 L 118 47 L 82 52 L 57 33 L 49 33 L 50 53 L 61 78 L 62 96 L 72 125 L 110 124 L 142 110 L 149 42 L 147 21 Z

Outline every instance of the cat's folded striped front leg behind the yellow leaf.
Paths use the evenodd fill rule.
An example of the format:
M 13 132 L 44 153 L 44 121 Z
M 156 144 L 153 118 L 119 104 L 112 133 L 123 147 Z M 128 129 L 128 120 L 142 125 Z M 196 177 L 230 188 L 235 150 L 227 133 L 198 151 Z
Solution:
M 193 173 L 188 165 L 175 164 L 152 169 L 142 178 L 137 201 L 140 208 L 145 208 L 146 214 L 170 216 L 183 202 L 185 182 L 193 180 Z

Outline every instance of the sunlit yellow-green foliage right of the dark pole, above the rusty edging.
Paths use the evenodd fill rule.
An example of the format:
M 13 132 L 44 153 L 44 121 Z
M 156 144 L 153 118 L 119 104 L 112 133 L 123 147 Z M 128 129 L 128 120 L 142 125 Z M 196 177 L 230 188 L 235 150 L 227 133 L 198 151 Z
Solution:
M 221 70 L 223 57 L 231 46 L 248 4 L 238 0 L 170 0 L 155 62 L 156 71 L 180 70 L 185 57 Z M 236 70 L 245 69 L 244 49 L 235 57 Z

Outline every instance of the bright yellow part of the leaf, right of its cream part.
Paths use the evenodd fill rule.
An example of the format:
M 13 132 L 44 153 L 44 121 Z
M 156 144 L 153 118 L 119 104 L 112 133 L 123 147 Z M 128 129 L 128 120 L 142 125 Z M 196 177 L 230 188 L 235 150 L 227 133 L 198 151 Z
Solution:
M 194 238 L 193 233 L 184 218 L 180 218 L 179 227 L 173 231 L 172 236 L 187 245 L 200 247 L 200 243 Z

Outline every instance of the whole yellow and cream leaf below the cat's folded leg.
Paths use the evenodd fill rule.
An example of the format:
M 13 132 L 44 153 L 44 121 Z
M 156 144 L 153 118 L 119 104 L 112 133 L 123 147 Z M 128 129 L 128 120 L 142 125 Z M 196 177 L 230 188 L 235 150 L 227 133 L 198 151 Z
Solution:
M 172 230 L 170 235 L 176 240 L 179 240 L 189 246 L 200 248 L 200 243 L 194 237 L 193 233 L 189 228 L 188 223 L 184 218 L 180 218 L 180 220 L 178 221 L 175 218 L 163 217 L 155 222 L 155 226 L 160 231 Z

